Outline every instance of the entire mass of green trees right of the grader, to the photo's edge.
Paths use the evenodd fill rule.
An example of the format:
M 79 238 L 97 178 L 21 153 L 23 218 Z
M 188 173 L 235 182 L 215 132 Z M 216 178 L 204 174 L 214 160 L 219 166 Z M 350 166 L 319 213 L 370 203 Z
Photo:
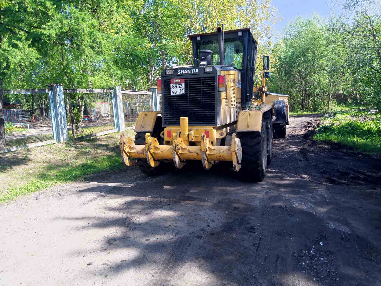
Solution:
M 270 90 L 291 111 L 323 111 L 333 101 L 381 111 L 381 11 L 375 1 L 342 0 L 344 13 L 298 18 L 274 45 Z

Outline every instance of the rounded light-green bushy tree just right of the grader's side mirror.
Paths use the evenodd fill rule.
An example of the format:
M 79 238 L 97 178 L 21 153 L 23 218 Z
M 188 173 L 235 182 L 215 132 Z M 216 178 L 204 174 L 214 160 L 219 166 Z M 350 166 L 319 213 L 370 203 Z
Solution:
M 341 90 L 343 73 L 339 51 L 328 31 L 328 22 L 314 15 L 298 18 L 274 47 L 275 71 L 271 90 L 290 95 L 292 111 L 321 111 L 333 93 Z

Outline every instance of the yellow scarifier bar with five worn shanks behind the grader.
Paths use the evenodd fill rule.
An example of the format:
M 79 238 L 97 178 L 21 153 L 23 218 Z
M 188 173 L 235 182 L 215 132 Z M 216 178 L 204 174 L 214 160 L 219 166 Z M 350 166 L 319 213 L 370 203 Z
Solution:
M 191 140 L 188 132 L 188 118 L 181 117 L 181 131 L 173 133 L 172 145 L 160 145 L 157 138 L 146 133 L 145 145 L 135 145 L 133 138 L 120 135 L 120 151 L 127 166 L 136 163 L 137 158 L 146 158 L 150 167 L 155 168 L 160 160 L 173 160 L 177 169 L 181 169 L 187 160 L 201 160 L 205 170 L 209 170 L 218 161 L 231 161 L 233 169 L 239 171 L 242 159 L 242 147 L 239 138 L 232 135 L 231 146 L 213 146 L 205 133 L 201 135 L 200 146 L 188 145 Z

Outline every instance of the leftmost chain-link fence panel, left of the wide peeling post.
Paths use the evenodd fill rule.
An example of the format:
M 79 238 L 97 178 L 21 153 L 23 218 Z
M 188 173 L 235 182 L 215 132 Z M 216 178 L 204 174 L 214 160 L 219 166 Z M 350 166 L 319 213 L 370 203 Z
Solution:
M 4 103 L 6 147 L 53 140 L 48 94 L 24 94 Z

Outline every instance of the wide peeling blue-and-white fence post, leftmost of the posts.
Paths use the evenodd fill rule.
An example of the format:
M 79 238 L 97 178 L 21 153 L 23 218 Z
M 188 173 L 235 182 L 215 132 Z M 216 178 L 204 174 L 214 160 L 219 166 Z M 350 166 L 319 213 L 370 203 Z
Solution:
M 56 142 L 69 141 L 66 124 L 66 109 L 62 84 L 48 84 L 53 138 Z

